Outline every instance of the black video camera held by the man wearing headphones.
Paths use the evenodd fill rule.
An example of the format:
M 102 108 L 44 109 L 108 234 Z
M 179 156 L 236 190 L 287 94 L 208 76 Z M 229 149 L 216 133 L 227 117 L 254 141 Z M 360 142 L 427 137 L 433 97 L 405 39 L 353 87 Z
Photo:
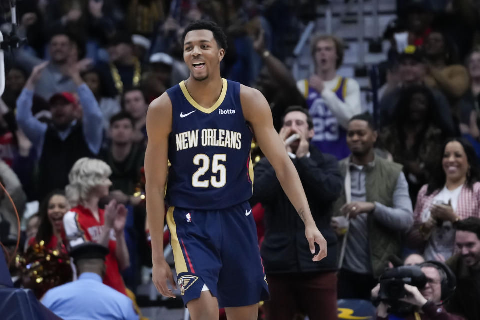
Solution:
M 380 276 L 379 282 L 380 291 L 374 301 L 375 304 L 384 302 L 390 306 L 390 314 L 406 316 L 414 310 L 414 306 L 400 301 L 407 295 L 405 284 L 422 289 L 427 283 L 427 278 L 420 266 L 411 265 L 386 270 Z

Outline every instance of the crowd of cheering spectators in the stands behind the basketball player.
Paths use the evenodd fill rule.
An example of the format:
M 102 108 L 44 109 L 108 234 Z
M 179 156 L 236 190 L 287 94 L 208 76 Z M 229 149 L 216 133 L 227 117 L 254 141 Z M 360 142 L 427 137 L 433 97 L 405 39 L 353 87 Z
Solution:
M 0 99 L 0 182 L 24 229 L 23 257 L 11 269 L 17 285 L 40 298 L 77 276 L 78 287 L 102 278 L 138 311 L 140 270 L 151 266 L 142 176 L 146 113 L 153 99 L 189 76 L 184 27 L 210 19 L 228 34 L 222 77 L 263 93 L 282 140 L 298 135 L 285 148 L 328 241 L 328 258 L 311 262 L 303 224 L 252 144 L 251 204 L 272 297 L 266 318 L 334 319 L 337 298 L 378 295 L 382 272 L 415 253 L 411 260 L 445 262 L 456 274 L 458 292 L 445 310 L 478 319 L 471 283 L 480 283 L 480 5 L 397 2 L 368 114 L 359 82 L 338 72 L 341 39 L 311 37 L 308 78 L 295 79 L 285 62 L 315 1 L 18 1 L 16 32 L 26 41 L 6 52 Z M 2 30 L 9 19 L 5 11 Z M 7 257 L 16 238 L 14 209 L 0 190 Z M 75 259 L 77 270 L 58 262 L 88 241 L 109 251 L 88 263 Z M 25 268 L 42 252 L 56 257 L 48 267 L 62 276 L 45 273 L 38 285 L 38 274 Z M 442 281 L 431 268 L 422 270 L 432 283 Z M 409 301 L 434 319 L 424 292 L 412 290 L 416 300 Z M 48 303 L 60 292 L 47 294 Z M 379 306 L 380 315 L 385 310 Z

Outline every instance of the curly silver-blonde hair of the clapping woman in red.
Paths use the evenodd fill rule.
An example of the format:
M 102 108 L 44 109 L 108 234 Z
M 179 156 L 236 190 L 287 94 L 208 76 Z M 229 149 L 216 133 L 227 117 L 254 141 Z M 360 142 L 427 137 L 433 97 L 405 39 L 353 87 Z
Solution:
M 71 206 L 85 201 L 91 190 L 110 175 L 110 166 L 102 160 L 87 157 L 78 159 L 68 173 L 69 184 L 65 187 Z

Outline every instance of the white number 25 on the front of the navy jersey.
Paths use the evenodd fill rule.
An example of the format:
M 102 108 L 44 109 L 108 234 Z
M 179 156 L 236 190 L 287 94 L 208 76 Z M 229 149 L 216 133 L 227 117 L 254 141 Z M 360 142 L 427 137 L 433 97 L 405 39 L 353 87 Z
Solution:
M 213 174 L 219 173 L 220 179 L 216 175 L 212 175 L 210 180 L 200 181 L 200 178 L 208 171 L 210 168 L 210 158 L 208 155 L 199 153 L 193 157 L 193 164 L 201 165 L 193 176 L 191 177 L 191 185 L 197 188 L 207 188 L 209 183 L 215 188 L 221 188 L 225 186 L 226 183 L 226 167 L 219 162 L 226 162 L 226 154 L 214 154 L 212 157 L 211 172 Z M 201 164 L 200 164 L 201 163 Z

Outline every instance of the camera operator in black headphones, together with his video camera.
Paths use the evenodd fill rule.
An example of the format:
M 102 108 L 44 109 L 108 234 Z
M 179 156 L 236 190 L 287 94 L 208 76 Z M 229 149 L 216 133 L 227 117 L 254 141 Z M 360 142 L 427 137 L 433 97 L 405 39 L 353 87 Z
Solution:
M 419 268 L 406 266 L 387 270 L 380 277 L 380 283 L 371 290 L 371 297 L 379 301 L 377 319 L 395 319 L 402 316 L 405 320 L 461 320 L 461 316 L 448 313 L 442 304 L 450 298 L 455 290 L 456 279 L 451 270 L 440 262 L 427 261 Z M 411 279 L 411 284 L 404 283 Z M 403 282 L 404 291 L 399 293 L 391 285 L 393 281 Z M 396 282 L 398 283 L 398 282 Z M 393 295 L 402 295 L 394 298 Z M 401 302 L 400 302 L 401 301 Z M 403 302 L 403 303 L 402 303 Z

